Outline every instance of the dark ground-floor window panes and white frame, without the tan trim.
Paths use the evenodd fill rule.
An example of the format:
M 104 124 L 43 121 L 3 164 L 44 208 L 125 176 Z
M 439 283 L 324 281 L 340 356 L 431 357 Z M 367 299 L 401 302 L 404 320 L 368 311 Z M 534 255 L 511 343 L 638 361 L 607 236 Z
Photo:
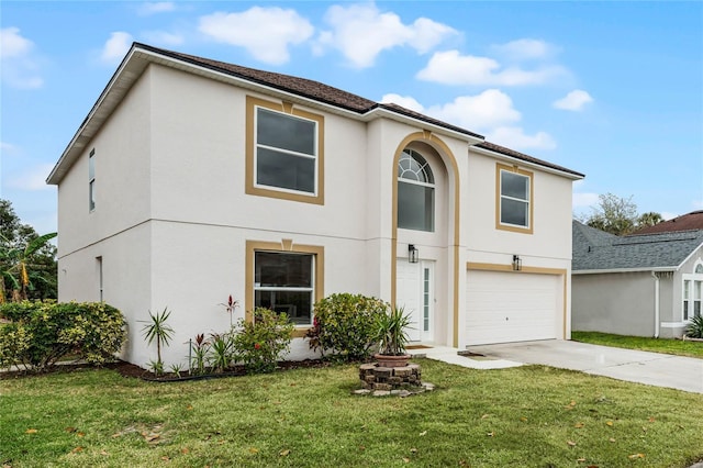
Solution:
M 256 252 L 254 305 L 286 312 L 297 325 L 312 324 L 314 255 Z

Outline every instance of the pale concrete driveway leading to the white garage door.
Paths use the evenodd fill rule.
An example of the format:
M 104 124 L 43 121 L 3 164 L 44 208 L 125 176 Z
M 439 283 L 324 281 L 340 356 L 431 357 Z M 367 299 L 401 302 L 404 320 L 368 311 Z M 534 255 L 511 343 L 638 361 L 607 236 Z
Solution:
M 703 393 L 703 359 L 550 339 L 469 346 L 471 353 L 524 364 Z

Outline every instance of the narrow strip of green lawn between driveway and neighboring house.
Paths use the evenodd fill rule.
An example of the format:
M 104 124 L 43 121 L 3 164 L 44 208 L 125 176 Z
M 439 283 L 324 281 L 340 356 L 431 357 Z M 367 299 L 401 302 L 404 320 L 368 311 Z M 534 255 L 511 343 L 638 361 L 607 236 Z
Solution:
M 600 332 L 571 332 L 571 339 L 574 342 L 591 343 L 593 345 L 703 358 L 703 342 L 624 336 Z

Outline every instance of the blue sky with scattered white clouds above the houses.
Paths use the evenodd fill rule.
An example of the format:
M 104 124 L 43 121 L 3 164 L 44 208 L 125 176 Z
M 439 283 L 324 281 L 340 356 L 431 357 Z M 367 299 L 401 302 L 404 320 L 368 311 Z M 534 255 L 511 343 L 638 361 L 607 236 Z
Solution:
M 703 2 L 0 1 L 0 197 L 44 183 L 132 41 L 395 101 L 672 218 L 703 209 Z

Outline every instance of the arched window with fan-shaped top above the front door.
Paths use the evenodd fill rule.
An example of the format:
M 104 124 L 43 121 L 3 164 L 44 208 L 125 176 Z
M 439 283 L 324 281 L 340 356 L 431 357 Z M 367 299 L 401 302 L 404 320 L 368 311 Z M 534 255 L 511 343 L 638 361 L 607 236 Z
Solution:
M 398 227 L 435 230 L 435 178 L 414 149 L 405 149 L 398 161 Z

